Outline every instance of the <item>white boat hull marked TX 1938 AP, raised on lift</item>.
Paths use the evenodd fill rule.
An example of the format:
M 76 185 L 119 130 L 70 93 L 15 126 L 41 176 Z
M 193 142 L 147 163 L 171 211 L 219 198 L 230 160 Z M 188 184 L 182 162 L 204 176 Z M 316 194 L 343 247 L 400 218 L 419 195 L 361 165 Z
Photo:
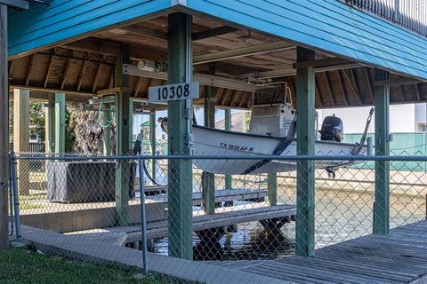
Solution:
M 193 127 L 195 154 L 224 155 L 230 159 L 222 160 L 193 160 L 194 165 L 206 172 L 215 174 L 243 174 L 261 162 L 254 160 L 235 160 L 233 157 L 242 155 L 274 154 L 274 150 L 281 138 L 253 135 L 241 132 L 214 130 L 201 126 Z M 340 155 L 351 154 L 353 147 L 357 145 L 339 143 L 333 141 L 315 141 L 315 154 Z M 367 148 L 363 147 L 359 154 L 366 154 Z M 294 140 L 281 155 L 295 155 L 296 140 Z M 353 161 L 315 161 L 317 169 L 342 167 L 355 163 Z M 272 160 L 250 170 L 251 174 L 286 172 L 296 170 L 296 161 Z

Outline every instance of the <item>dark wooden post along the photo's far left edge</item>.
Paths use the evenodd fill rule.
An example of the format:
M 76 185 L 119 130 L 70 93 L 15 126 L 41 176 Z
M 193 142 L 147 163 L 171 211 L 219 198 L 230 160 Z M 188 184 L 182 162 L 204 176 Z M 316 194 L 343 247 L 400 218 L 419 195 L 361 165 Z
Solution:
M 7 6 L 0 4 L 0 250 L 9 247 L 9 74 Z

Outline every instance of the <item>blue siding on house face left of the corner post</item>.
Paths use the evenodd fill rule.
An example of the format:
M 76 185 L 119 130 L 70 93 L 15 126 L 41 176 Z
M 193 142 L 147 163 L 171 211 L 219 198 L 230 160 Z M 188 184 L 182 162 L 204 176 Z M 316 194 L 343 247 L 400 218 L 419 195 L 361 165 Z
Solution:
M 9 12 L 9 56 L 165 10 L 171 0 L 52 0 Z

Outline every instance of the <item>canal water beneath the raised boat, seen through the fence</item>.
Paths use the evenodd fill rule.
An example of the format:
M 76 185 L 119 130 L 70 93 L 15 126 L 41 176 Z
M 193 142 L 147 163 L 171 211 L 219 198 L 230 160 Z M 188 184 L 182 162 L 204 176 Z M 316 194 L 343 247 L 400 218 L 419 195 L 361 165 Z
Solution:
M 316 190 L 316 248 L 358 238 L 372 233 L 373 191 L 344 192 Z M 295 204 L 294 187 L 278 187 L 279 202 Z M 409 195 L 391 195 L 391 228 L 425 219 L 425 201 Z M 248 208 L 254 203 L 246 204 Z M 199 260 L 277 259 L 294 255 L 294 222 L 284 225 L 279 235 L 266 233 L 259 222 L 238 225 L 220 243 L 222 250 L 208 248 L 199 253 L 199 240 L 194 238 L 195 258 Z M 167 239 L 157 240 L 153 252 L 167 255 Z

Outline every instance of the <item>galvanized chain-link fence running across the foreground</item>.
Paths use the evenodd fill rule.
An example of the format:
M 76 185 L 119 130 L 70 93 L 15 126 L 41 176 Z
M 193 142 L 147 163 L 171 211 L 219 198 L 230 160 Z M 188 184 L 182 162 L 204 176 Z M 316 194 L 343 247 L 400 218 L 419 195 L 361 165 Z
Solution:
M 227 175 L 203 170 L 224 172 L 231 165 L 233 172 L 243 172 L 239 169 L 266 157 L 17 154 L 11 166 L 18 199 L 12 201 L 19 218 L 12 218 L 12 229 L 20 227 L 17 233 L 30 236 L 42 250 L 86 261 L 109 254 L 113 261 L 137 263 L 151 272 L 160 270 L 162 257 L 176 256 L 296 283 L 308 277 L 318 277 L 318 283 L 342 278 L 357 270 L 351 258 L 368 267 L 361 280 L 375 276 L 393 282 L 395 276 L 388 276 L 384 267 L 402 267 L 396 278 L 402 282 L 427 273 L 425 264 L 416 266 L 414 250 L 397 248 L 399 238 L 404 242 L 407 237 L 418 241 L 418 250 L 427 249 L 427 174 L 416 170 L 425 156 L 338 156 L 316 161 L 313 156 L 275 157 L 288 171 Z M 375 193 L 375 159 L 390 164 L 390 177 L 376 177 L 376 186 L 385 184 L 387 189 L 390 184 L 383 195 L 381 188 Z M 297 177 L 295 171 L 298 163 L 310 162 L 318 167 L 312 192 L 310 177 Z M 334 168 L 334 162 L 346 165 Z M 376 221 L 374 211 L 380 216 Z M 295 225 L 299 217 L 303 222 Z M 375 226 L 388 231 L 389 224 L 385 239 L 377 237 L 383 235 L 378 231 L 373 235 Z M 399 231 L 411 226 L 417 227 L 410 233 Z M 295 256 L 298 247 L 308 248 L 309 255 L 314 248 L 314 256 Z M 405 261 L 396 263 L 396 254 Z M 334 265 L 328 266 L 329 261 Z M 185 267 L 182 273 L 196 273 Z M 319 276 L 320 271 L 329 276 Z

